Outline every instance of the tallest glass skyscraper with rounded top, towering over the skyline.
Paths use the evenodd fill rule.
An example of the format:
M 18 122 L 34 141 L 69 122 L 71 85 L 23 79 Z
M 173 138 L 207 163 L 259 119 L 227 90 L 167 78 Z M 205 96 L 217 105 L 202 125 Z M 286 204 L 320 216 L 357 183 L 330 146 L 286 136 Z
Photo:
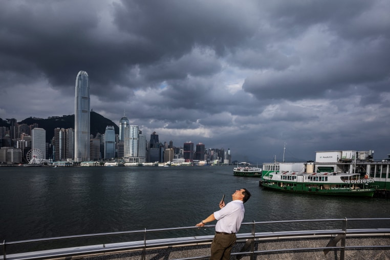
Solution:
M 90 160 L 90 78 L 80 71 L 75 89 L 75 161 Z

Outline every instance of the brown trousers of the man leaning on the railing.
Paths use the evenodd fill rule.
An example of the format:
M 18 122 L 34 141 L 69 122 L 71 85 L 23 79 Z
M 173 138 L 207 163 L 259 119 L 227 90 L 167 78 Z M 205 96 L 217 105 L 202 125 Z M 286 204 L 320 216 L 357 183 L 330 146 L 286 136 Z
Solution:
M 215 234 L 211 243 L 210 260 L 229 260 L 231 248 L 236 240 L 234 233 L 232 234 Z

